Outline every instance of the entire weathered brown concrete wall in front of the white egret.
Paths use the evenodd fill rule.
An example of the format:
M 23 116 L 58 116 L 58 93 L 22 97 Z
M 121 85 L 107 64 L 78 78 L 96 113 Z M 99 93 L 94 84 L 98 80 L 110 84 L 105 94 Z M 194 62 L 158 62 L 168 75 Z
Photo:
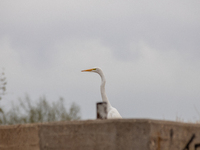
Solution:
M 0 126 L 0 150 L 200 150 L 200 125 L 148 119 Z

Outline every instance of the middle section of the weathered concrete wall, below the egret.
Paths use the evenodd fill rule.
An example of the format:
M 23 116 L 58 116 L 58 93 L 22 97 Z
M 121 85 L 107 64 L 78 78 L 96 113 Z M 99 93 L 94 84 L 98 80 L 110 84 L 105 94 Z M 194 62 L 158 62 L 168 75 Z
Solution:
M 147 150 L 149 126 L 145 122 L 97 120 L 45 124 L 40 128 L 41 149 Z

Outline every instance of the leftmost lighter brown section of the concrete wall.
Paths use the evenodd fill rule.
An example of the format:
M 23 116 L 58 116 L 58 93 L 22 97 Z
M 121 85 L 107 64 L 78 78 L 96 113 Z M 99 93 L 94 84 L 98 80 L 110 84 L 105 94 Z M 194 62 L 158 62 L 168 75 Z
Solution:
M 39 150 L 37 125 L 0 126 L 0 150 Z

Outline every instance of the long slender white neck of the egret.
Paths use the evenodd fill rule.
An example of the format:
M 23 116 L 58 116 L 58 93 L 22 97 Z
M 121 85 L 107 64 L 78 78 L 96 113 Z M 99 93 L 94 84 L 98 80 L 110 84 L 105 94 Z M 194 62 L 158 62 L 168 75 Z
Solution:
M 101 97 L 103 102 L 107 102 L 108 108 L 111 107 L 110 102 L 108 101 L 108 98 L 106 96 L 106 91 L 105 91 L 105 85 L 106 85 L 106 79 L 104 77 L 103 72 L 99 73 L 101 76 Z

